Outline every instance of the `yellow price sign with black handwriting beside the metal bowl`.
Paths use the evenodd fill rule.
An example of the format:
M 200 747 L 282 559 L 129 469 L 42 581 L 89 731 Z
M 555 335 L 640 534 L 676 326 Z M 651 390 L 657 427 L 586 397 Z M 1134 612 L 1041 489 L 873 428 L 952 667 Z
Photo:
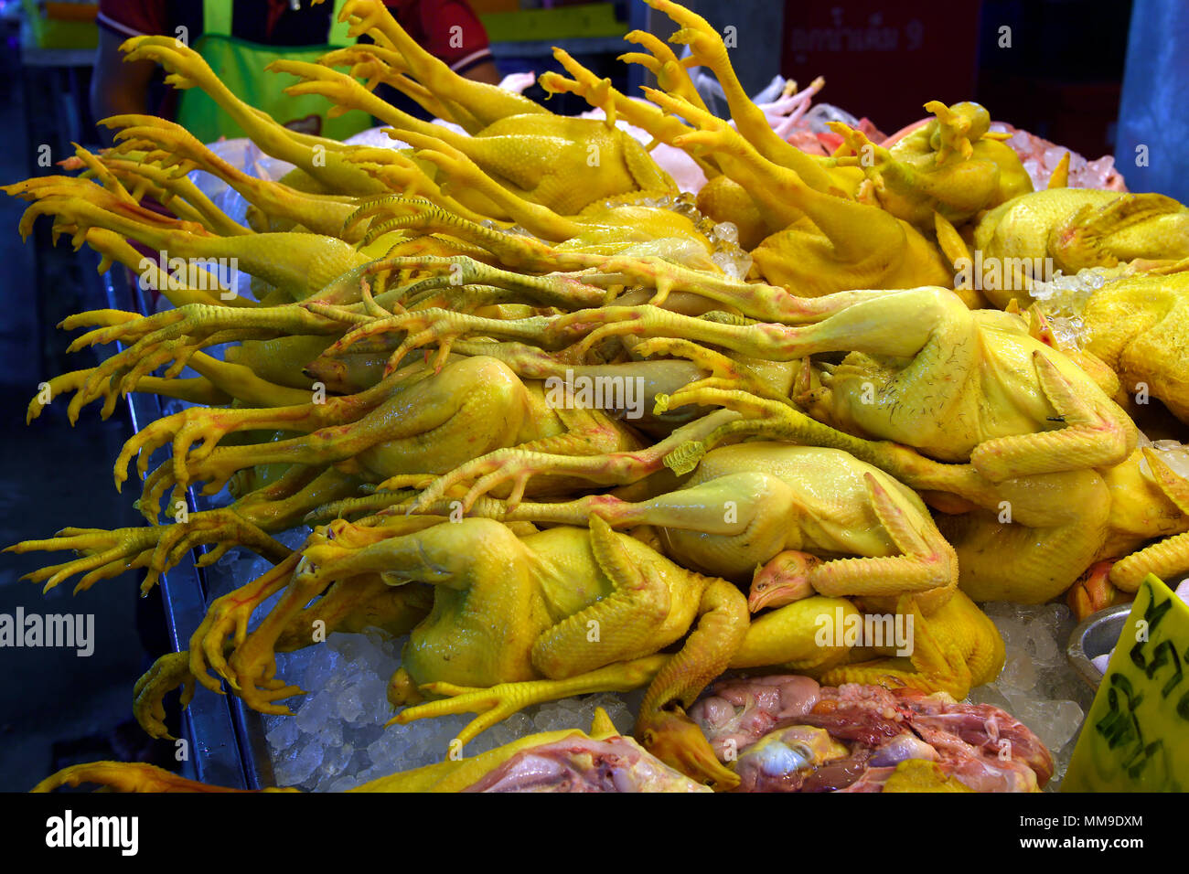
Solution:
M 1152 574 L 1135 592 L 1061 788 L 1189 790 L 1189 606 Z

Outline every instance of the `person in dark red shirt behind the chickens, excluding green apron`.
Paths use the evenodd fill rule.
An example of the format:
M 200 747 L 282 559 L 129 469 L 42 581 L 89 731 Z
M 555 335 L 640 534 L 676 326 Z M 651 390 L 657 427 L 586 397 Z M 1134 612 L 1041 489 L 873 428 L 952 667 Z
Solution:
M 499 82 L 487 33 L 466 0 L 385 0 L 385 5 L 420 45 L 455 73 L 480 82 Z M 151 98 L 155 83 L 161 81 L 157 64 L 150 61 L 124 63 L 119 46 L 128 37 L 184 34 L 181 38 L 201 54 L 207 17 L 214 18 L 218 12 L 221 20 L 213 21 L 212 29 L 227 30 L 226 37 L 235 42 L 308 49 L 327 43 L 336 6 L 333 2 L 315 6 L 309 0 L 218 0 L 216 5 L 210 0 L 100 0 L 92 112 L 96 119 L 152 109 L 158 115 L 177 117 L 176 92 L 170 89 L 159 101 Z M 273 74 L 262 69 L 259 75 Z M 269 92 L 276 94 L 282 87 L 279 81 L 276 86 L 266 84 Z

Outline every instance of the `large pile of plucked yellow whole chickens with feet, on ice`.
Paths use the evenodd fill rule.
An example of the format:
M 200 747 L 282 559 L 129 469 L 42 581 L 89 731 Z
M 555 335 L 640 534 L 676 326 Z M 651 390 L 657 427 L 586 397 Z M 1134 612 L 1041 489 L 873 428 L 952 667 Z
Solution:
M 1069 592 L 1086 614 L 1149 572 L 1189 571 L 1189 453 L 1166 425 L 1153 441 L 1133 422 L 1150 400 L 1189 417 L 1189 212 L 1067 187 L 1068 158 L 1033 191 L 1011 134 L 976 103 L 926 103 L 932 119 L 889 146 L 831 122 L 832 155 L 801 151 L 748 99 L 705 20 L 648 2 L 688 55 L 628 34 L 638 51 L 623 59 L 658 83 L 647 101 L 560 50 L 566 75 L 541 77 L 602 118 L 455 76 L 378 0 L 342 12 L 372 44 L 272 64 L 298 77 L 290 94 L 369 112 L 403 150 L 295 133 L 175 39 L 138 37 L 128 59 L 201 88 L 297 169 L 262 181 L 171 122 L 119 115 L 103 121 L 113 149 L 69 162 L 78 175 L 5 188 L 31 201 L 23 233 L 48 215 L 102 268 L 126 265 L 174 304 L 68 319 L 88 328 L 73 350 L 124 347 L 55 378 L 30 417 L 65 397 L 71 420 L 92 402 L 106 416 L 130 391 L 194 404 L 117 459 L 118 488 L 133 459 L 146 474 L 150 524 L 19 543 L 80 555 L 32 579 L 78 576 L 87 589 L 140 568 L 147 587 L 202 545 L 214 548 L 200 564 L 235 547 L 275 562 L 214 601 L 189 650 L 137 685 L 150 734 L 168 736 L 163 697 L 181 686 L 188 700 L 195 683 L 225 680 L 249 706 L 288 712 L 302 690 L 277 675 L 276 653 L 380 628 L 410 635 L 389 685 L 395 722 L 476 713 L 464 748 L 534 703 L 647 687 L 638 746 L 599 721 L 577 732 L 579 748 L 611 743 L 594 756 L 611 765 L 577 774 L 559 765 L 567 753 L 523 766 L 568 786 L 762 784 L 756 756 L 724 755 L 716 725 L 687 715 L 737 669 L 837 687 L 798 715 L 813 719 L 781 723 L 805 735 L 793 786 L 813 784 L 805 768 L 858 761 L 823 713 L 883 694 L 911 737 L 861 775 L 883 750 L 868 743 L 853 782 L 912 786 L 933 762 L 929 785 L 1034 788 L 1051 759 L 1023 727 L 1031 779 L 980 782 L 924 752 L 920 727 L 970 706 L 954 700 L 1002 667 L 975 602 Z M 717 77 L 730 121 L 706 109 L 693 67 Z M 379 83 L 465 133 L 394 108 Z M 707 180 L 697 196 L 617 120 L 690 156 Z M 193 170 L 249 201 L 246 226 Z M 199 264 L 232 258 L 256 300 Z M 1055 309 L 1072 306 L 1068 294 L 1033 304 L 1040 287 L 1081 291 L 1076 313 Z M 1053 331 L 1058 316 L 1072 335 Z M 222 358 L 203 351 L 222 344 Z M 195 485 L 229 485 L 234 503 L 195 511 Z M 161 522 L 163 502 L 174 521 Z M 272 537 L 303 521 L 301 548 Z M 911 645 L 842 634 L 873 616 L 906 625 Z M 524 738 L 465 768 L 451 756 L 446 785 L 514 785 L 502 781 L 526 749 L 574 736 Z M 638 761 L 647 774 L 623 776 Z M 436 785 L 445 772 L 432 767 L 388 787 Z M 180 785 L 140 766 L 87 768 L 48 785 Z

